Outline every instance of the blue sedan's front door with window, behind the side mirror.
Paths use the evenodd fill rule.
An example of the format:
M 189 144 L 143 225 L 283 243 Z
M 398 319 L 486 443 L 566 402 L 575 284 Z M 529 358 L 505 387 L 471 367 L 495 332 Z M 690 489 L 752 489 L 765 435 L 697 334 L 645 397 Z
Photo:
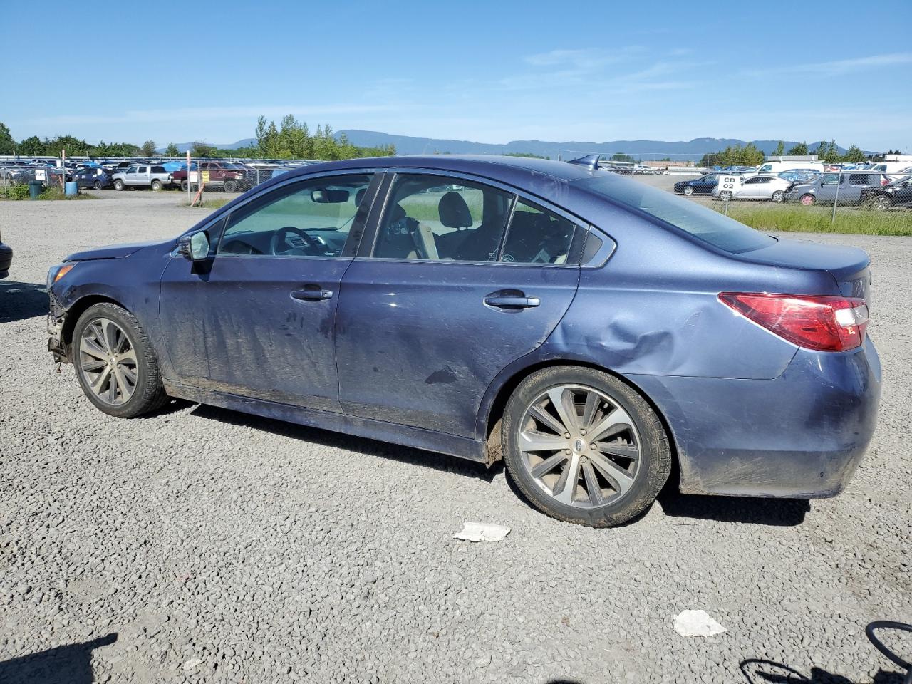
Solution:
M 181 383 L 340 411 L 339 284 L 367 219 L 358 208 L 376 190 L 372 178 L 292 179 L 213 225 L 217 246 L 202 268 L 172 258 L 161 279 L 161 327 Z

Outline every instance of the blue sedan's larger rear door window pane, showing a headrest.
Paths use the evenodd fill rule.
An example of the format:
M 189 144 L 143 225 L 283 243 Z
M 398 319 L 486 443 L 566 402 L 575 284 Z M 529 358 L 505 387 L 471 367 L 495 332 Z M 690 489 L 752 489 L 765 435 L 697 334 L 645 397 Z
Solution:
M 457 178 L 397 174 L 373 255 L 496 261 L 513 194 Z

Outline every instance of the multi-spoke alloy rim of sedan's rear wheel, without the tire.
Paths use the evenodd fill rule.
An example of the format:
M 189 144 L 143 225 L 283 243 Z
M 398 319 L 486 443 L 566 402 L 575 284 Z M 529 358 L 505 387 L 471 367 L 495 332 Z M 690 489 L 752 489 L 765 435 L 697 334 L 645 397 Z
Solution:
M 633 420 L 616 400 L 581 385 L 546 389 L 519 426 L 523 465 L 559 503 L 594 508 L 633 486 L 641 461 Z

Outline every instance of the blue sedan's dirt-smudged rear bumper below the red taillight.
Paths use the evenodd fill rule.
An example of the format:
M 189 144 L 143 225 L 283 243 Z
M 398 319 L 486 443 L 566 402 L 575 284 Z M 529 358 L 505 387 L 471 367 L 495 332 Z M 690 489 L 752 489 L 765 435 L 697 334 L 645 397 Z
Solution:
M 772 380 L 631 376 L 668 420 L 686 493 L 817 498 L 851 481 L 874 435 L 880 361 L 799 350 Z

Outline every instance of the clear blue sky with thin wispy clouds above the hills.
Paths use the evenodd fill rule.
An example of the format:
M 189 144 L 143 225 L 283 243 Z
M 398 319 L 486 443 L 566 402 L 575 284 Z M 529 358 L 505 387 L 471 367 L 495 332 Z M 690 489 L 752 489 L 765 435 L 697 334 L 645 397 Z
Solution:
M 49 0 L 3 16 L 17 67 L 0 121 L 16 139 L 231 143 L 258 114 L 291 113 L 482 142 L 823 138 L 912 152 L 912 42 L 890 37 L 912 26 L 909 0 Z

